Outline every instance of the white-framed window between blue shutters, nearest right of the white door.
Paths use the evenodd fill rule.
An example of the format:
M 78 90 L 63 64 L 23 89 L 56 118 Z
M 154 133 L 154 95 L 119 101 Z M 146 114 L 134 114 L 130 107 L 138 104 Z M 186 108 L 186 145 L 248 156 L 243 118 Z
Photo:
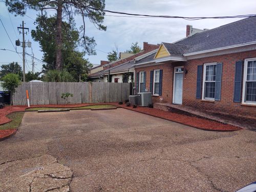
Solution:
M 203 99 L 215 99 L 217 63 L 204 65 Z

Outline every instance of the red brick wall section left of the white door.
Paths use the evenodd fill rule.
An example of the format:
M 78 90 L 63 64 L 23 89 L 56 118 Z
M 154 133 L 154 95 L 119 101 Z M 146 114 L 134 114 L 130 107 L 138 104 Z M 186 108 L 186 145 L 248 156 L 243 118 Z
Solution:
M 173 102 L 173 74 L 174 67 L 184 66 L 185 62 L 166 62 L 163 65 L 156 65 L 150 67 L 136 68 L 136 74 L 140 71 L 146 72 L 146 89 L 150 91 L 150 72 L 155 69 L 163 70 L 163 79 L 162 79 L 162 96 L 153 96 L 153 102 L 160 102 L 160 98 L 163 100 L 161 102 Z M 136 78 L 135 78 L 136 81 Z

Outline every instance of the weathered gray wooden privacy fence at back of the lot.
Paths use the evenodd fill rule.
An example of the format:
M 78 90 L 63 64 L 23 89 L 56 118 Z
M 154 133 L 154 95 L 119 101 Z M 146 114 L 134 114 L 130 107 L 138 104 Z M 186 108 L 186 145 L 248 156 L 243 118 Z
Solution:
M 14 105 L 27 105 L 26 90 L 32 105 L 65 104 L 62 93 L 72 93 L 71 104 L 118 102 L 129 98 L 131 83 L 111 82 L 26 82 L 13 95 Z

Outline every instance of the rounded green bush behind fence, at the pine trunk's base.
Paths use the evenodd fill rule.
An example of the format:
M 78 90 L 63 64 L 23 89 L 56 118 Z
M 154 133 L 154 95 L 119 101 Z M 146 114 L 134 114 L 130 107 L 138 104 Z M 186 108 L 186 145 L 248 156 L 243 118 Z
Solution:
M 72 75 L 66 70 L 49 70 L 45 76 L 44 81 L 47 82 L 71 82 L 73 81 Z

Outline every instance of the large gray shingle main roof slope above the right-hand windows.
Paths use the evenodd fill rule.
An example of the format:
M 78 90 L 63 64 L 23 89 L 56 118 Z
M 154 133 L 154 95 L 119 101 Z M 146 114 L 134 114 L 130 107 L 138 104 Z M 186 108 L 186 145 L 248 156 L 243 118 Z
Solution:
M 176 42 L 176 45 L 193 46 L 193 48 L 186 51 L 186 53 L 193 53 L 251 41 L 256 41 L 255 16 L 196 33 Z

